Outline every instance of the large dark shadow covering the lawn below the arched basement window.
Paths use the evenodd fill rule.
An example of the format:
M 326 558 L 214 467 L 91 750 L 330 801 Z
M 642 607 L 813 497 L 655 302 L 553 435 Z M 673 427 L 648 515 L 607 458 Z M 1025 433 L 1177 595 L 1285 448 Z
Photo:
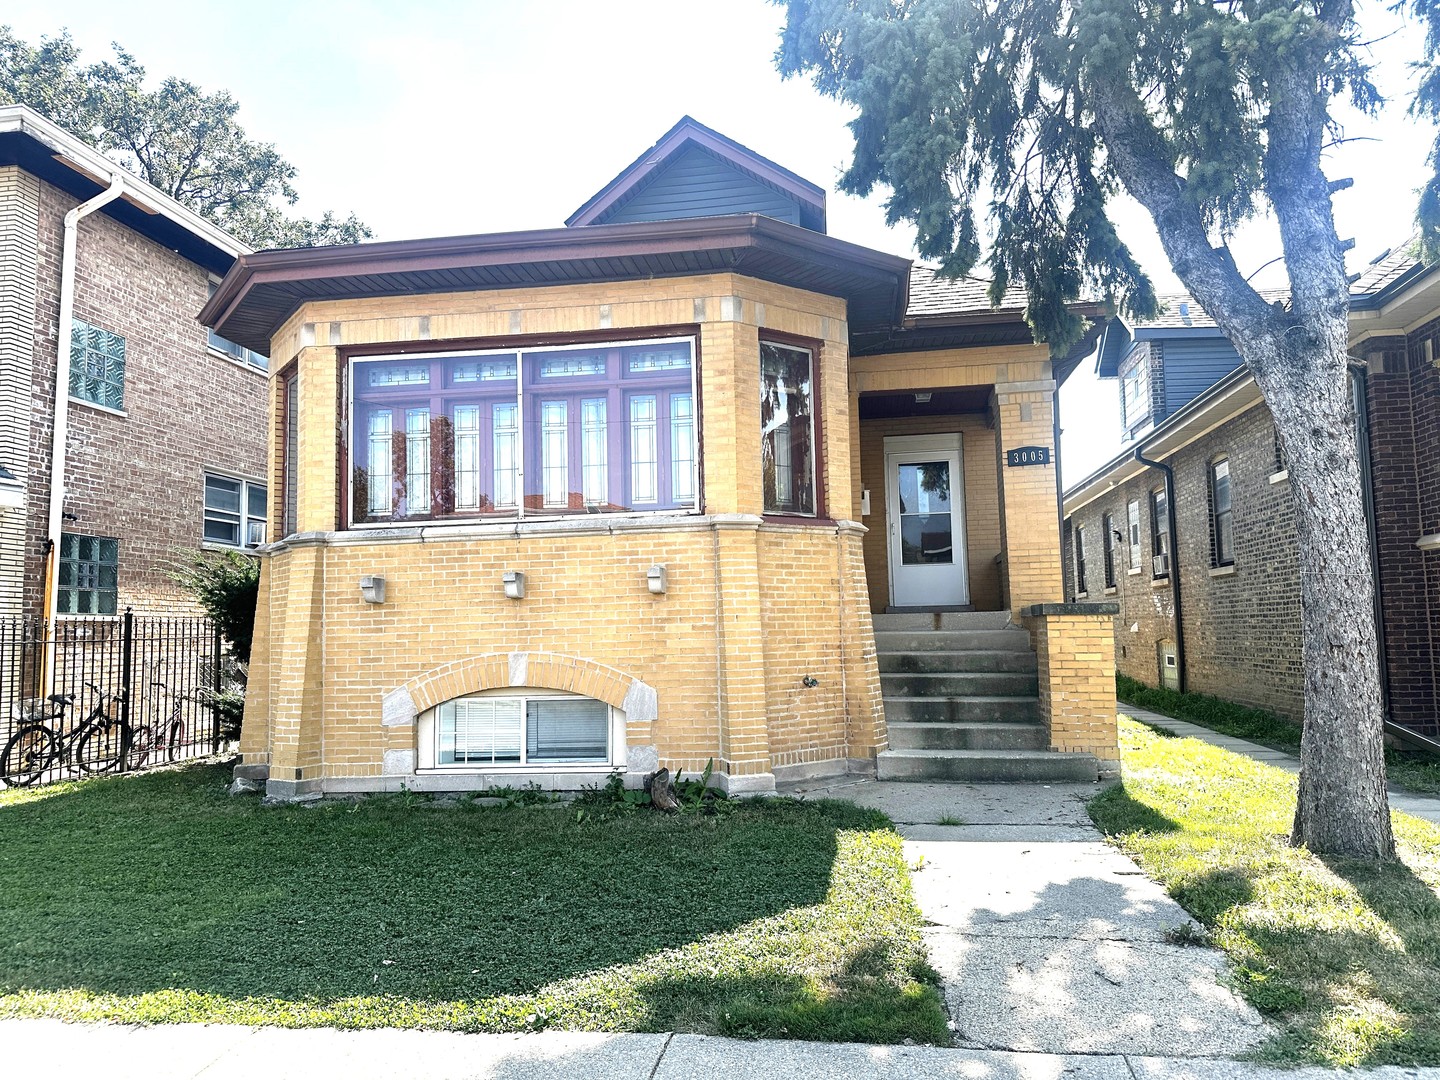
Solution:
M 0 806 L 0 994 L 477 1001 L 821 904 L 848 804 L 261 808 L 222 769 Z

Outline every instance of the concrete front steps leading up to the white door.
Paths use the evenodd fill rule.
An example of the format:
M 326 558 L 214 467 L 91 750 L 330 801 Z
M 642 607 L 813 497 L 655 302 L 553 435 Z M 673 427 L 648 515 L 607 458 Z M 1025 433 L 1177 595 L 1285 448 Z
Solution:
M 876 615 L 890 749 L 881 780 L 1093 780 L 1087 753 L 1054 753 L 1030 634 L 1008 612 Z

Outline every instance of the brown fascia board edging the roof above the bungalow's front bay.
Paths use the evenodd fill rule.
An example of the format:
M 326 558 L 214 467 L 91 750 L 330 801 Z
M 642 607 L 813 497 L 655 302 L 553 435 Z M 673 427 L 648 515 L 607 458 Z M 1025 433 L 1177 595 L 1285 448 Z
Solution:
M 242 255 L 235 261 L 235 266 L 225 275 L 215 295 L 200 310 L 199 318 L 202 324 L 223 334 L 225 321 L 243 304 L 251 288 L 272 282 L 664 255 L 713 248 L 768 248 L 811 264 L 855 272 L 858 276 L 891 278 L 896 281 L 894 323 L 900 321 L 909 301 L 910 259 L 838 240 L 763 215 L 726 215 L 262 251 Z

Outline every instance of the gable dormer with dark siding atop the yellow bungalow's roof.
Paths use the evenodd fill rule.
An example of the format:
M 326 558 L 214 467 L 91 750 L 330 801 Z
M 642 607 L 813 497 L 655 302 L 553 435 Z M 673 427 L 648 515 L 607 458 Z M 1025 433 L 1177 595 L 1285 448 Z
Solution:
M 566 225 L 759 213 L 825 232 L 825 192 L 690 117 L 661 135 Z

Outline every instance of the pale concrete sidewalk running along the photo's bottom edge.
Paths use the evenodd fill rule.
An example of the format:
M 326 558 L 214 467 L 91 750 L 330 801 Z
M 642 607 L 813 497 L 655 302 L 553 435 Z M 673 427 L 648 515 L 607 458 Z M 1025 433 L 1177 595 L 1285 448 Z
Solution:
M 704 1035 L 336 1031 L 0 1021 L 4 1076 L 72 1080 L 1320 1080 L 1338 1070 L 1215 1058 L 1022 1054 Z M 1440 1080 L 1440 1068 L 1346 1076 Z

